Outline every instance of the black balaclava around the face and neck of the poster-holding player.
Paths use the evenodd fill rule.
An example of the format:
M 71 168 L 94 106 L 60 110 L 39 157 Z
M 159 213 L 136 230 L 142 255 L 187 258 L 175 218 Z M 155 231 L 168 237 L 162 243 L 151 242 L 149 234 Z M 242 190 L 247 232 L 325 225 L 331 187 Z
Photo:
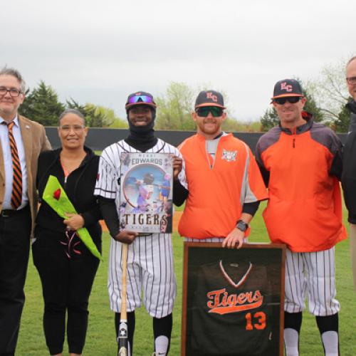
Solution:
M 129 120 L 129 111 L 134 106 L 131 106 L 126 112 L 127 121 L 129 122 L 130 135 L 125 138 L 125 142 L 127 142 L 128 145 L 134 147 L 136 150 L 146 152 L 147 150 L 150 150 L 150 148 L 154 147 L 157 143 L 155 130 L 153 130 L 153 127 L 155 126 L 156 109 L 152 108 L 150 105 L 147 105 L 147 107 L 150 108 L 152 112 L 152 121 L 145 126 L 135 126 Z

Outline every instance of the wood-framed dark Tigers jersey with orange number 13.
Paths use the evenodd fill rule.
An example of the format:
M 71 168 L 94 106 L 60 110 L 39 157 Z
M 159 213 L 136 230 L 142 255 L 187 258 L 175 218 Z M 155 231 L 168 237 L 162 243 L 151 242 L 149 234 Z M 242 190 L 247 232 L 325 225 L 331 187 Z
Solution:
M 182 355 L 283 356 L 285 255 L 185 242 Z

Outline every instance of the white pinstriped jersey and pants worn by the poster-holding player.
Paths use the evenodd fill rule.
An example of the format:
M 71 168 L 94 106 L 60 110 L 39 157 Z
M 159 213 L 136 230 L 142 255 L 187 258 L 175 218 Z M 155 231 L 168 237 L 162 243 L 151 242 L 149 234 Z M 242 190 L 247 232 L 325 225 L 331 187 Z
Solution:
M 124 140 L 105 148 L 100 157 L 98 181 L 95 194 L 115 199 L 120 219 L 120 155 L 123 152 L 140 152 Z M 182 157 L 172 145 L 162 140 L 147 152 L 169 153 Z M 179 181 L 186 186 L 184 163 Z M 120 313 L 122 261 L 120 242 L 110 242 L 108 289 L 110 308 Z M 147 312 L 155 318 L 164 318 L 172 313 L 177 295 L 174 275 L 172 240 L 170 234 L 139 236 L 129 245 L 127 260 L 127 311 L 140 307 L 141 291 Z

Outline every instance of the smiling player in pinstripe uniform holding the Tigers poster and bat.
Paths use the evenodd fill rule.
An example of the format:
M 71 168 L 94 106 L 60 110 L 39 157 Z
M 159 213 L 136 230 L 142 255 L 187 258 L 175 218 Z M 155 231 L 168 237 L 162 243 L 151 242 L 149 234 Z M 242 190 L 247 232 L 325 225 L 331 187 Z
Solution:
M 95 194 L 112 236 L 109 260 L 110 307 L 115 312 L 118 330 L 121 306 L 122 244 L 129 244 L 127 260 L 127 323 L 129 344 L 135 330 L 135 309 L 142 301 L 153 318 L 155 355 L 167 355 L 172 332 L 172 309 L 177 294 L 173 269 L 170 234 L 138 236 L 136 232 L 120 229 L 120 154 L 122 152 L 160 152 L 174 157 L 174 186 L 184 183 L 182 156 L 172 145 L 154 135 L 156 104 L 150 93 L 129 95 L 125 105 L 130 135 L 105 148 L 100 157 Z M 143 290 L 143 300 L 141 298 Z

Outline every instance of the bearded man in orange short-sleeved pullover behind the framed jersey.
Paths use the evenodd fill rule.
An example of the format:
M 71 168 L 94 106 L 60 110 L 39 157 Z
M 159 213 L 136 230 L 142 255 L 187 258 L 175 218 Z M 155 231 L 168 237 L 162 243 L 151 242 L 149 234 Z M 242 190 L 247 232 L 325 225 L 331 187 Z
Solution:
M 197 135 L 179 146 L 188 190 L 183 194 L 187 201 L 178 230 L 187 241 L 240 248 L 259 201 L 267 194 L 246 143 L 221 130 L 225 109 L 221 93 L 199 93 L 192 114 Z

